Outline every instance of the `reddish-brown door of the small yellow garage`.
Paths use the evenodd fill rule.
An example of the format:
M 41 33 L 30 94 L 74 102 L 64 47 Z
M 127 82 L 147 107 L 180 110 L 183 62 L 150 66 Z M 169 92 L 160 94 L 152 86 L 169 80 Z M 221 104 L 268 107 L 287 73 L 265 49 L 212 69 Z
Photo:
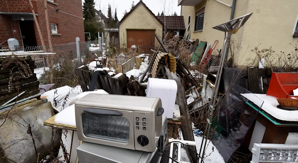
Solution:
M 154 47 L 155 30 L 127 29 L 127 48 L 131 45 L 139 47 Z

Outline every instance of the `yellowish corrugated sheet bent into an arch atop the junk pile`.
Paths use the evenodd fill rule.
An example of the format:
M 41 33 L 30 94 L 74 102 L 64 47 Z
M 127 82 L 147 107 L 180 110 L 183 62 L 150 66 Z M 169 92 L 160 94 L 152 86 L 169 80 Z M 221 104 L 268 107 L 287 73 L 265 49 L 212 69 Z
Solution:
M 163 57 L 165 55 L 168 55 L 169 58 L 170 58 L 170 61 L 169 61 L 169 69 L 170 69 L 170 71 L 173 71 L 173 73 L 176 74 L 177 62 L 176 62 L 175 57 L 172 56 L 172 54 L 167 54 L 167 53 L 164 53 L 164 52 L 159 52 L 157 54 L 156 58 L 154 59 L 154 62 L 153 62 L 152 67 L 150 68 L 151 74 L 152 74 L 152 77 L 153 78 L 155 78 L 156 71 L 157 71 L 157 68 L 158 68 L 158 63 L 159 63 L 161 57 Z

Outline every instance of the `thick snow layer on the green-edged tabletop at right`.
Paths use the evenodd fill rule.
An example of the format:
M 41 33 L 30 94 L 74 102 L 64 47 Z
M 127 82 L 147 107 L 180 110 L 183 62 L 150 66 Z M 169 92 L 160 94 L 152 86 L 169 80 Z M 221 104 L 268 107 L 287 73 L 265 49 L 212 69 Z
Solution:
M 257 106 L 261 106 L 261 108 L 265 112 L 277 118 L 278 120 L 298 121 L 298 110 L 284 110 L 277 108 L 276 106 L 278 106 L 279 104 L 276 98 L 273 96 L 253 93 L 245 93 L 241 95 L 250 100 L 251 102 L 254 102 L 254 104 L 256 104 Z

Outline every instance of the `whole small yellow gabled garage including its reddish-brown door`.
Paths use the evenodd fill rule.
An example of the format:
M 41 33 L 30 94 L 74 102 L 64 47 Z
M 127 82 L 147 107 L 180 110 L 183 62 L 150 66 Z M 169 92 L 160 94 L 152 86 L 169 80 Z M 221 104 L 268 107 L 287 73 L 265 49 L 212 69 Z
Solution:
M 120 47 L 158 47 L 155 34 L 162 38 L 162 27 L 161 21 L 141 0 L 119 22 Z

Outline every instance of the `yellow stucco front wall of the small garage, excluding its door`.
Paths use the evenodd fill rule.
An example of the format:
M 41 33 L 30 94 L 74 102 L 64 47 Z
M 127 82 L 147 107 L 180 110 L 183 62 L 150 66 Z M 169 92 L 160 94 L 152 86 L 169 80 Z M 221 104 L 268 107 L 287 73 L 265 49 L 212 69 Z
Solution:
M 155 34 L 162 37 L 162 24 L 140 4 L 119 26 L 120 47 L 126 48 L 126 29 L 155 29 Z M 124 45 L 124 46 L 123 46 Z M 159 43 L 155 39 L 155 47 Z

